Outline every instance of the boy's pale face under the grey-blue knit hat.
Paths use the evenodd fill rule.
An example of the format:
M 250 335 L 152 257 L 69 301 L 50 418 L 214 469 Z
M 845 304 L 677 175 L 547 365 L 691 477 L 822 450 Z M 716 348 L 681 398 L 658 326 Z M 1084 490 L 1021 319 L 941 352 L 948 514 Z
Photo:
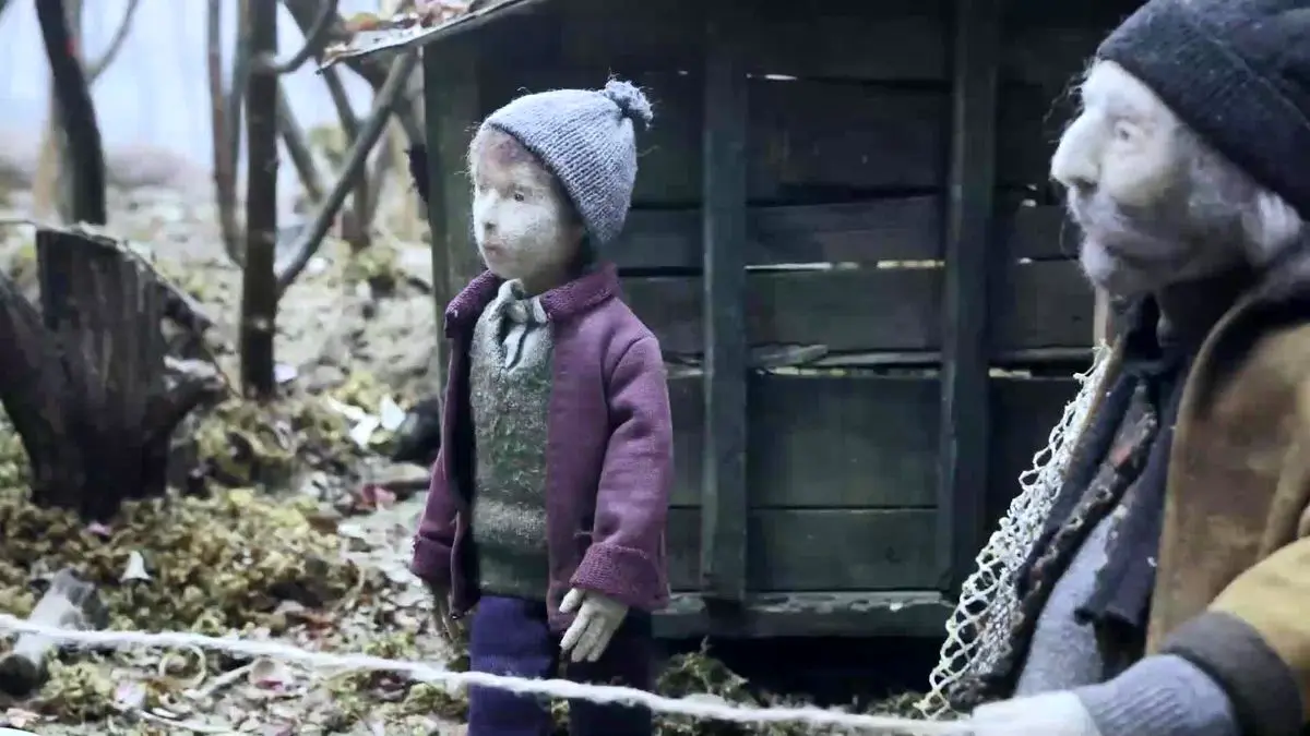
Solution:
M 502 279 L 550 283 L 569 270 L 583 228 L 559 182 L 510 135 L 483 128 L 469 148 L 473 237 Z

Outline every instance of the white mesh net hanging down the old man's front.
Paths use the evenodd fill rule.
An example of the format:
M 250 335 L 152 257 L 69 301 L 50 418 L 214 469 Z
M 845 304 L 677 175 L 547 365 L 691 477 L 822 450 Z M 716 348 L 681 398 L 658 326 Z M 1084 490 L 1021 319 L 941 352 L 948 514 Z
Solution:
M 1032 468 L 1019 475 L 1019 495 L 979 553 L 977 570 L 964 580 L 960 600 L 946 622 L 941 659 L 929 676 L 929 693 L 916 703 L 925 718 L 952 715 L 948 698 L 954 688 L 965 677 L 990 669 L 1005 653 L 1010 621 L 1019 602 L 1015 574 L 1051 513 L 1069 454 L 1100 390 L 1108 354 L 1104 346 L 1098 347 L 1091 368 L 1074 376 L 1082 384 L 1078 396 L 1065 405 L 1047 447 L 1032 457 Z

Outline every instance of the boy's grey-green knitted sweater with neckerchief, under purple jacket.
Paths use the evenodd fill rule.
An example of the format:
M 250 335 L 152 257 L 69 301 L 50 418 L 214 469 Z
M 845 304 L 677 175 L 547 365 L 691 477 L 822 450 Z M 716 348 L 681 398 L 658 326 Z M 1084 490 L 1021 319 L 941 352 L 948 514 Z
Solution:
M 545 600 L 552 337 L 541 300 L 506 282 L 473 330 L 473 543 L 485 595 Z

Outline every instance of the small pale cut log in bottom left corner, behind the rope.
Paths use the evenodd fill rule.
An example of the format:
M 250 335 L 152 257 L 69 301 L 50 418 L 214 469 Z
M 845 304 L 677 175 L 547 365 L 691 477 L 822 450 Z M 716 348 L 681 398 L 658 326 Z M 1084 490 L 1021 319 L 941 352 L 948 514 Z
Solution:
M 109 614 L 96 587 L 79 580 L 72 570 L 60 570 L 51 578 L 46 595 L 37 601 L 28 621 L 59 629 L 103 629 Z M 24 634 L 13 651 L 0 659 L 0 690 L 21 698 L 46 682 L 46 657 L 58 642 L 39 634 Z

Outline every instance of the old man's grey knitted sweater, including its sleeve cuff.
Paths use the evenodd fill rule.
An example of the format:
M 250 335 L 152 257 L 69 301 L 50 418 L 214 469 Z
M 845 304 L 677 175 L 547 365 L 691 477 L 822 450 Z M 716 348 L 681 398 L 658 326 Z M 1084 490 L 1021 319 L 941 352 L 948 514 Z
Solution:
M 1128 415 L 1137 414 L 1134 409 Z M 1129 422 L 1124 424 L 1120 435 Z M 1132 494 L 1129 488 L 1124 499 Z M 1179 656 L 1149 656 L 1111 677 L 1095 631 L 1074 618 L 1096 584 L 1120 516 L 1110 513 L 1093 529 L 1052 588 L 1015 695 L 1073 690 L 1100 736 L 1241 736 L 1227 695 L 1196 665 Z

